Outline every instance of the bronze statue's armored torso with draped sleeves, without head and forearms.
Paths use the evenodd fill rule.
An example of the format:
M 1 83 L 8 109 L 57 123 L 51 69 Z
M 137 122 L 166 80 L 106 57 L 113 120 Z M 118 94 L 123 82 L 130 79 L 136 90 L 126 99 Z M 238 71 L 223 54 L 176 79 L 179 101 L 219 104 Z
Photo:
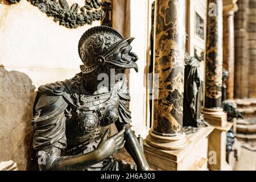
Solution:
M 97 148 L 112 123 L 130 122 L 126 79 L 115 82 L 110 91 L 86 94 L 84 89 L 81 75 L 39 87 L 32 119 L 36 150 L 46 156 L 86 154 Z M 101 169 L 110 161 L 112 156 L 88 169 Z

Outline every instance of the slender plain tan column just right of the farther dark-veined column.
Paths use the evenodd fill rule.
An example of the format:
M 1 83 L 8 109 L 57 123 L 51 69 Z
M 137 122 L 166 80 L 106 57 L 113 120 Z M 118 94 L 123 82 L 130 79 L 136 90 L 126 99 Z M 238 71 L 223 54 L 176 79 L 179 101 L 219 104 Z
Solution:
M 237 0 L 223 1 L 223 68 L 229 72 L 226 79 L 226 99 L 234 99 L 234 13 Z

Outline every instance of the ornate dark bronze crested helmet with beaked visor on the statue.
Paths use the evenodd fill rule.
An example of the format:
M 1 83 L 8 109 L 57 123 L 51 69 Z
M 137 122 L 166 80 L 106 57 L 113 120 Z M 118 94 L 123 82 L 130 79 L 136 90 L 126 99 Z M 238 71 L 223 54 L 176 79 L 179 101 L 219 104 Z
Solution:
M 105 62 L 122 68 L 134 68 L 138 72 L 138 65 L 135 63 L 138 56 L 130 52 L 133 39 L 124 39 L 111 27 L 90 28 L 79 40 L 79 55 L 84 63 L 80 65 L 82 73 L 90 73 Z

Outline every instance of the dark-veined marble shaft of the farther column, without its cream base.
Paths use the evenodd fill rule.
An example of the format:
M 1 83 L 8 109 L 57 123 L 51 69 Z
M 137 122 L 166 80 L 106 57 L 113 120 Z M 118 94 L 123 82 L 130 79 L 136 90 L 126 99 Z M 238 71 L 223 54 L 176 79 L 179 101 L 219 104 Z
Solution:
M 222 89 L 222 1 L 209 0 L 205 57 L 205 107 L 221 107 Z

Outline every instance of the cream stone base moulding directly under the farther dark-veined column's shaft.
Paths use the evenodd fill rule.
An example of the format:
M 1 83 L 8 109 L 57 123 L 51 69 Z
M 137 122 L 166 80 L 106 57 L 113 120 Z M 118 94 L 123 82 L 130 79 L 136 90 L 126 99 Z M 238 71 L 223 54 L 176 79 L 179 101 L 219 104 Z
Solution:
M 208 109 L 203 108 L 202 114 L 204 114 L 204 119 L 210 125 L 225 127 L 228 122 L 228 117 L 223 109 Z

